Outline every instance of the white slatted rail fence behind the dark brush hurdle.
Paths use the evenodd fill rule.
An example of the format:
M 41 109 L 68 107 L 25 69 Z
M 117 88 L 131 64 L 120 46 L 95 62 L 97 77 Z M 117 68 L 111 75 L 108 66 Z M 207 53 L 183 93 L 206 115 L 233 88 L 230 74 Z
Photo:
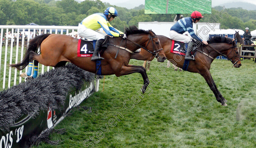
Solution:
M 28 32 L 33 33 L 33 38 L 35 37 L 35 34 L 41 35 L 41 33 L 52 33 L 55 32 L 55 34 L 63 34 L 63 31 L 66 32 L 66 35 L 69 34 L 69 30 L 71 30 L 71 36 L 74 37 L 76 35 L 75 30 L 77 30 L 77 26 L 33 26 L 33 25 L 0 25 L 1 28 L 1 37 L 0 37 L 0 82 L 2 81 L 3 89 L 6 85 L 8 85 L 8 88 L 10 88 L 12 85 L 16 85 L 17 83 L 17 69 L 13 70 L 13 68 L 9 67 L 7 64 L 7 61 L 9 61 L 9 64 L 15 64 L 20 62 L 23 59 L 24 54 L 24 47 L 26 49 L 26 46 L 29 44 L 30 37 L 28 36 L 25 38 L 25 31 L 28 30 Z M 6 37 L 4 37 L 4 29 L 6 29 Z M 8 39 L 8 32 L 11 31 L 12 37 Z M 19 34 L 22 33 L 22 38 L 19 39 Z M 16 34 L 16 38 L 14 38 L 14 34 Z M 70 34 L 69 34 L 70 35 Z M 79 37 L 79 36 L 78 36 Z M 27 41 L 25 41 L 27 40 Z M 5 42 L 3 42 L 5 41 Z M 14 43 L 15 41 L 15 43 Z M 8 45 L 9 44 L 9 45 Z M 21 45 L 20 45 L 21 44 Z M 27 44 L 27 45 L 26 45 Z M 4 45 L 4 46 L 3 46 Z M 14 46 L 16 45 L 16 52 L 13 51 Z M 9 48 L 8 48 L 9 46 Z M 21 48 L 19 48 L 21 46 Z M 5 52 L 3 53 L 3 47 L 5 47 Z M 9 50 L 9 51 L 8 51 Z M 13 61 L 12 54 L 16 53 L 15 56 L 15 62 Z M 19 56 L 20 54 L 20 56 Z M 4 62 L 3 57 L 4 56 Z M 7 59 L 8 58 L 8 59 Z M 2 65 L 4 64 L 4 65 Z M 4 66 L 4 70 L 2 72 L 2 66 Z M 7 69 L 9 67 L 9 73 L 7 73 Z M 34 67 L 34 65 L 33 65 Z M 41 73 L 44 73 L 44 65 L 39 64 L 39 67 L 41 68 Z M 34 68 L 33 68 L 34 69 Z M 49 71 L 50 67 L 47 67 L 47 71 Z M 12 76 L 14 72 L 14 76 Z M 20 74 L 22 72 L 27 72 L 27 67 L 25 71 L 20 71 Z M 8 77 L 6 77 L 6 75 Z M 33 70 L 32 74 L 33 75 Z M 18 76 L 19 77 L 19 76 Z M 7 83 L 8 79 L 8 83 Z M 12 84 L 11 81 L 14 83 Z M 21 83 L 22 79 L 19 78 L 19 83 Z M 96 86 L 98 81 L 96 81 Z M 98 88 L 95 88 L 98 90 Z

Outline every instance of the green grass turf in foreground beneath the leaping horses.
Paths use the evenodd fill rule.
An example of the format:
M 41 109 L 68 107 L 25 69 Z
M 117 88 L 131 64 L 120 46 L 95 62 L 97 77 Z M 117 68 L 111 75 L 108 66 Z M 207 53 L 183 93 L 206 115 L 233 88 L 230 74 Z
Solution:
M 143 61 L 131 60 L 142 65 Z M 140 74 L 106 76 L 99 91 L 80 106 L 92 107 L 92 113 L 74 108 L 55 129 L 66 128 L 66 133 L 52 134 L 50 140 L 63 140 L 59 145 L 41 143 L 39 148 L 77 148 L 94 143 L 95 148 L 251 148 L 256 145 L 255 66 L 252 60 L 242 61 L 242 67 L 232 68 L 227 60 L 214 60 L 211 73 L 219 91 L 228 101 L 221 106 L 200 74 L 174 71 L 167 75 L 158 69 L 161 63 L 151 62 L 148 75 L 154 73 L 159 82 L 151 95 L 144 95 L 131 110 L 123 102 L 137 95 L 143 81 Z M 185 81 L 186 80 L 186 81 Z M 150 85 L 151 86 L 151 85 Z M 128 101 L 127 107 L 132 103 Z M 109 119 L 120 112 L 120 122 L 111 127 Z M 109 132 L 106 129 L 108 125 Z M 104 137 L 96 138 L 102 131 Z M 96 142 L 89 136 L 95 136 Z M 103 135 L 101 135 L 103 136 Z M 35 148 L 36 146 L 34 146 Z M 87 146 L 91 147 L 91 145 Z

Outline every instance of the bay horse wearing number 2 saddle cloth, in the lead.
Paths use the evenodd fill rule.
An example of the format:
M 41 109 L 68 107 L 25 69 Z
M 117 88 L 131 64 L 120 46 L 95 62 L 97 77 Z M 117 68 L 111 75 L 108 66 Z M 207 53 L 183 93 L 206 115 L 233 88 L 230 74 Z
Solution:
M 170 53 L 172 40 L 166 36 L 160 35 L 158 35 L 158 39 L 161 43 L 161 46 L 163 47 L 167 60 L 172 62 L 174 65 L 182 68 L 184 64 L 184 56 L 176 56 L 175 53 Z M 204 77 L 205 81 L 209 85 L 210 89 L 213 91 L 217 101 L 220 102 L 221 105 L 226 106 L 227 104 L 225 102 L 227 101 L 217 89 L 217 86 L 213 81 L 212 75 L 209 70 L 212 61 L 220 54 L 226 55 L 226 57 L 231 60 L 234 67 L 238 68 L 242 66 L 239 52 L 235 42 L 232 42 L 232 40 L 226 37 L 214 36 L 210 38 L 207 42 L 207 46 L 201 44 L 197 48 L 197 50 L 199 51 L 197 51 L 195 54 L 196 61 L 189 62 L 187 71 L 201 74 L 201 76 Z M 140 53 L 134 53 L 131 58 L 137 60 L 153 60 L 153 58 L 151 57 L 152 56 L 150 54 L 146 53 L 144 50 L 141 50 Z M 177 57 L 180 57 L 181 59 L 175 60 L 177 59 Z

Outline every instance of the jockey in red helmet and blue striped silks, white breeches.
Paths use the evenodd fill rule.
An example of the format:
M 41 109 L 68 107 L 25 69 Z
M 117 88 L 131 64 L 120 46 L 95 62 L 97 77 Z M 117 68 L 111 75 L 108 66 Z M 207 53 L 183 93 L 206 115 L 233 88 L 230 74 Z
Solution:
M 199 42 L 202 42 L 205 45 L 208 44 L 206 41 L 199 38 L 195 34 L 193 29 L 193 22 L 194 23 L 199 22 L 202 17 L 203 16 L 201 15 L 200 12 L 194 11 L 192 12 L 191 17 L 186 17 L 178 20 L 170 29 L 169 35 L 172 40 L 188 43 L 188 49 L 187 49 L 188 52 L 186 53 L 186 56 L 185 56 L 186 60 L 194 60 L 194 56 L 191 57 L 190 51 L 192 50 L 193 44 L 194 45 L 196 44 L 196 40 Z M 185 33 L 186 31 L 188 31 L 191 37 L 183 35 L 183 33 Z M 195 39 L 195 40 L 192 40 L 192 39 Z

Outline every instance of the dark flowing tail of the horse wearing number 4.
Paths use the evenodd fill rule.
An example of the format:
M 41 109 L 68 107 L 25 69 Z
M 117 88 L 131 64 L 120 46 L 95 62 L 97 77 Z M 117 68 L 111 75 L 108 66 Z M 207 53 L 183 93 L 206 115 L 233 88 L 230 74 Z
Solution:
M 37 49 L 40 47 L 43 40 L 46 39 L 49 35 L 49 33 L 42 34 L 40 36 L 35 36 L 34 39 L 30 40 L 23 60 L 20 63 L 11 64 L 10 67 L 16 67 L 20 71 L 23 70 L 29 63 L 29 52 L 37 52 Z

